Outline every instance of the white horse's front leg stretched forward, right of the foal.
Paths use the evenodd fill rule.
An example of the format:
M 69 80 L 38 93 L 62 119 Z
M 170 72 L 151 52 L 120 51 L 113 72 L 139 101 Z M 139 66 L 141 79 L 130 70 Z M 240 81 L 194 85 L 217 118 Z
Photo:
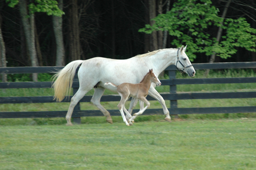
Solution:
M 163 113 L 166 116 L 166 118 L 164 119 L 168 122 L 171 122 L 171 116 L 170 116 L 169 110 L 166 107 L 163 97 L 157 92 L 157 90 L 152 85 L 149 88 L 148 95 L 153 97 L 154 99 L 157 99 L 157 101 L 160 102 L 160 104 L 163 107 Z

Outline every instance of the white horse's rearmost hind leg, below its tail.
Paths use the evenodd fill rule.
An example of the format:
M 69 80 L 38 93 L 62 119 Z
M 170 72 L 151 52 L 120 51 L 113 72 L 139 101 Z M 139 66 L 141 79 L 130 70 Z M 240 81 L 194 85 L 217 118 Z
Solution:
M 70 102 L 70 107 L 68 108 L 67 111 L 67 115 L 66 115 L 66 120 L 67 120 L 67 126 L 72 126 L 71 123 L 71 116 L 73 113 L 73 110 L 76 106 L 76 104 L 79 102 L 79 100 L 81 98 L 83 98 L 83 96 L 88 92 L 88 90 L 84 90 L 79 88 L 78 91 L 76 92 L 76 94 L 71 98 L 71 102 Z

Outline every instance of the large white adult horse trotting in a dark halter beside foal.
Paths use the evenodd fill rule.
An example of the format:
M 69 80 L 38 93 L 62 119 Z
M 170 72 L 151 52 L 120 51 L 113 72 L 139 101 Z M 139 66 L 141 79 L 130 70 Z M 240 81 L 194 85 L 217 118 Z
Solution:
M 187 47 L 187 46 L 186 46 Z M 72 125 L 71 116 L 74 107 L 79 100 L 92 88 L 94 94 L 91 102 L 99 108 L 100 111 L 107 117 L 107 122 L 113 123 L 110 113 L 100 104 L 100 99 L 105 91 L 116 92 L 115 87 L 106 86 L 106 82 L 112 82 L 120 85 L 123 82 L 139 83 L 144 75 L 148 72 L 148 68 L 153 68 L 154 74 L 158 77 L 169 65 L 175 65 L 177 69 L 186 72 L 190 77 L 195 76 L 195 69 L 191 65 L 185 51 L 186 47 L 167 48 L 157 51 L 152 51 L 146 54 L 137 55 L 130 59 L 108 59 L 95 57 L 87 60 L 75 60 L 67 64 L 61 71 L 58 71 L 54 79 L 52 87 L 54 88 L 54 99 L 61 101 L 65 96 L 70 94 L 73 77 L 76 73 L 76 68 L 81 65 L 78 71 L 79 90 L 71 98 L 70 107 L 67 111 L 67 125 Z M 155 90 L 156 84 L 152 83 L 149 88 L 148 95 L 157 99 L 162 107 L 163 113 L 166 115 L 165 120 L 171 121 L 169 111 L 166 108 L 163 97 Z M 132 98 L 129 108 L 129 113 L 132 112 L 138 99 Z M 131 114 L 126 114 L 126 118 L 130 119 Z

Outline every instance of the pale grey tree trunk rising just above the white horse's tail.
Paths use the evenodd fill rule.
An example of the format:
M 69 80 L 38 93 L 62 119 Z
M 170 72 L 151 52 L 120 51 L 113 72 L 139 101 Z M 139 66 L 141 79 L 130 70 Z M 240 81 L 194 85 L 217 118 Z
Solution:
M 63 11 L 63 0 L 58 0 L 58 7 Z M 64 65 L 64 41 L 63 41 L 63 34 L 62 34 L 62 16 L 52 16 L 53 21 L 53 30 L 55 35 L 55 42 L 56 42 L 56 66 Z

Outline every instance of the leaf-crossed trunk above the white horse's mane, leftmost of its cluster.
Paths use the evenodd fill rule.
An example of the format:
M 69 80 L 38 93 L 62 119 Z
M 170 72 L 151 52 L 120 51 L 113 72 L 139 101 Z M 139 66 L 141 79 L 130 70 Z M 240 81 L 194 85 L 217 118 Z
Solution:
M 156 0 L 148 0 L 149 2 L 149 22 L 154 25 L 155 21 L 151 20 L 156 17 Z M 150 38 L 150 51 L 157 50 L 157 31 L 153 31 Z

